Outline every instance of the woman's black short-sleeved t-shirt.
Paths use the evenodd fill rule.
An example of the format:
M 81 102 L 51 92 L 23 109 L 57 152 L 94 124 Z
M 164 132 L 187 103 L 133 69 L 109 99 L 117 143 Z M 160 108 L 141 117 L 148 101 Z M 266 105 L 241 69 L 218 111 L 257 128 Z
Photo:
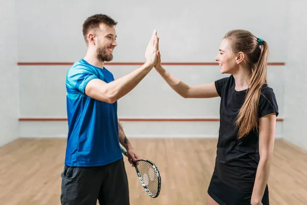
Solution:
M 215 172 L 227 185 L 242 191 L 252 191 L 259 163 L 259 133 L 252 131 L 237 138 L 235 121 L 242 107 L 246 90 L 236 91 L 233 76 L 215 81 L 221 96 L 220 130 L 217 142 Z M 258 104 L 258 117 L 276 113 L 278 106 L 273 89 L 262 86 Z

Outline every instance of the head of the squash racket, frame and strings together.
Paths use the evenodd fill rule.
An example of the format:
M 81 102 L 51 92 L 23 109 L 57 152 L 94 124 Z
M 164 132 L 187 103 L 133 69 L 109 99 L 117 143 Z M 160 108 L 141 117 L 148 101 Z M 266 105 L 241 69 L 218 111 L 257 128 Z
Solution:
M 161 190 L 161 175 L 158 167 L 148 159 L 133 161 L 139 180 L 152 198 L 157 198 Z

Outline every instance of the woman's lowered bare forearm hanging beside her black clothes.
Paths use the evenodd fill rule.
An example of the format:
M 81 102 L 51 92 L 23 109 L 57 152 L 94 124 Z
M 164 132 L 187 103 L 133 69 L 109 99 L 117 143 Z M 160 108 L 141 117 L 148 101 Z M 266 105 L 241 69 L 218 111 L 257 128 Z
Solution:
M 269 180 L 270 169 L 270 159 L 260 159 L 251 199 L 252 202 L 255 202 L 254 204 L 261 204 Z

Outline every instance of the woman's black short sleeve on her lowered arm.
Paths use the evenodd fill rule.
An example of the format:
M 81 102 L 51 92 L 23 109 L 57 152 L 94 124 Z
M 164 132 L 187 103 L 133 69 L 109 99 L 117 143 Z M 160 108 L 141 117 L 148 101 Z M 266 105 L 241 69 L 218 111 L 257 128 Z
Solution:
M 260 93 L 258 109 L 259 118 L 272 113 L 278 116 L 277 100 L 272 88 L 267 87 Z

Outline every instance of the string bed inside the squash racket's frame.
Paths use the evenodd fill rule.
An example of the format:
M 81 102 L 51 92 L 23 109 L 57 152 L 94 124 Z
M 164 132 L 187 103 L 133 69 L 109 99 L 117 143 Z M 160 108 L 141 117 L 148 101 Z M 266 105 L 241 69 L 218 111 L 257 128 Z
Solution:
M 146 161 L 138 161 L 137 167 L 139 169 L 139 172 L 143 178 L 143 181 L 147 187 L 147 189 L 152 194 L 158 193 L 158 176 L 155 171 L 155 169 L 152 167 L 152 165 Z

